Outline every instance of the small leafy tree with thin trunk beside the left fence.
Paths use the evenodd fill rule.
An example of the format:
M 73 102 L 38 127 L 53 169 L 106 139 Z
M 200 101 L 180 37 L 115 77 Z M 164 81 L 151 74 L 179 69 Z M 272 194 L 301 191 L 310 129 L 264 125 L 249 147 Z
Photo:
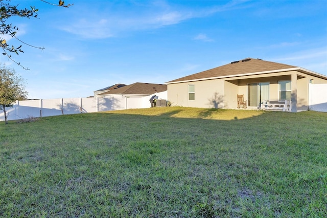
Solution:
M 6 107 L 12 107 L 16 100 L 26 99 L 25 80 L 16 75 L 14 69 L 0 66 L 0 110 L 4 111 L 7 121 Z

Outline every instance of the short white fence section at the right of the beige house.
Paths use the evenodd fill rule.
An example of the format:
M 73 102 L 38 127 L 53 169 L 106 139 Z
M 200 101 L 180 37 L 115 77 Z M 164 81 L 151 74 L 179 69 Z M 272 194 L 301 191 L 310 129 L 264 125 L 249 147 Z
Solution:
M 327 84 L 309 85 L 309 109 L 327 112 Z

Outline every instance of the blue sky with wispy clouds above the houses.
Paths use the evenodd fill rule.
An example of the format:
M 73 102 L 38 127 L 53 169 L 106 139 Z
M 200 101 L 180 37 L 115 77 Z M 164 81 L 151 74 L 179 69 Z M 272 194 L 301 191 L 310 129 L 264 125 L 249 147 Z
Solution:
M 58 1 L 47 1 L 56 4 Z M 23 45 L 0 61 L 29 98 L 92 96 L 116 83 L 165 83 L 247 57 L 327 75 L 327 1 L 41 1 L 38 19 L 10 18 Z M 3 36 L 1 36 L 3 37 Z M 9 44 L 20 45 L 6 38 Z

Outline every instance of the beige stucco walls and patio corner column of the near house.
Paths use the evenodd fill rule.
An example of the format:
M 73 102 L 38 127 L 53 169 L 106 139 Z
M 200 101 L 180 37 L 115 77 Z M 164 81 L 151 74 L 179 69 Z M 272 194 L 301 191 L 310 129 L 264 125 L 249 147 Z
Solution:
M 327 80 L 298 71 L 277 72 L 262 75 L 247 75 L 194 82 L 168 84 L 168 100 L 172 105 L 203 108 L 237 108 L 237 94 L 248 100 L 248 84 L 269 82 L 269 99 L 277 100 L 278 81 L 291 80 L 292 112 L 309 108 L 309 83 L 327 83 Z M 188 100 L 188 85 L 195 85 L 195 100 Z M 256 107 L 255 107 L 256 108 Z M 253 107 L 254 109 L 254 107 Z

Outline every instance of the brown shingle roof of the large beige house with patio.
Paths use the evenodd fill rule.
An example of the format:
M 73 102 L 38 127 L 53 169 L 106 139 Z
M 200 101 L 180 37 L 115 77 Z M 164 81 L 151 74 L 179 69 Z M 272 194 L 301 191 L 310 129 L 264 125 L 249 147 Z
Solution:
M 259 73 L 259 72 L 282 70 L 282 69 L 289 69 L 289 68 L 297 68 L 297 67 L 284 63 L 276 63 L 276 62 L 271 62 L 261 59 L 245 58 L 243 60 L 233 61 L 231 63 L 225 64 L 218 68 L 213 68 L 200 73 L 175 79 L 167 83 L 213 78 L 213 77 L 232 76 L 232 75 L 240 75 L 240 74 L 248 74 L 248 73 Z

